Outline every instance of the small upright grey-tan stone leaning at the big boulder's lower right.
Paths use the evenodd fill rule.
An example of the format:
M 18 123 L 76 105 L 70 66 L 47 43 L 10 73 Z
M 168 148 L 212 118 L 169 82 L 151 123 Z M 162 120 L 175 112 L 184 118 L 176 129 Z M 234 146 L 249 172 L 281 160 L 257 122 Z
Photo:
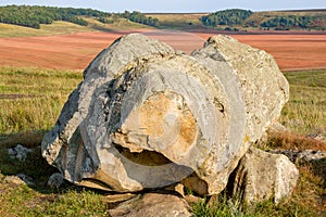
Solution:
M 298 178 L 299 170 L 287 156 L 252 146 L 230 176 L 228 190 L 249 205 L 272 197 L 277 204 L 291 194 Z

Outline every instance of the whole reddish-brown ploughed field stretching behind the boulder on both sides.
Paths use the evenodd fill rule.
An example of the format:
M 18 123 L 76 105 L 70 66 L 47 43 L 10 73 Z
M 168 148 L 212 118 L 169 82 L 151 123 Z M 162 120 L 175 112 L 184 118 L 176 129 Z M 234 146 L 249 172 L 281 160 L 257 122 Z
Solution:
M 127 33 L 78 33 L 49 37 L 0 38 L 1 66 L 84 69 L 93 58 Z M 176 50 L 190 53 L 209 33 L 146 31 Z M 274 55 L 281 71 L 326 68 L 326 35 L 233 35 Z

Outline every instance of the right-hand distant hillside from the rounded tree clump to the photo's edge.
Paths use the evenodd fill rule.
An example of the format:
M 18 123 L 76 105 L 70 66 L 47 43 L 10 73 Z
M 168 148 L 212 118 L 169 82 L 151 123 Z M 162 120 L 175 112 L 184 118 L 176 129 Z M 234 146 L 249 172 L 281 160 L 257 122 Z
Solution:
M 315 29 L 326 27 L 326 11 L 252 12 L 240 9 L 218 11 L 202 16 L 205 26 L 226 29 L 260 28 L 264 30 Z

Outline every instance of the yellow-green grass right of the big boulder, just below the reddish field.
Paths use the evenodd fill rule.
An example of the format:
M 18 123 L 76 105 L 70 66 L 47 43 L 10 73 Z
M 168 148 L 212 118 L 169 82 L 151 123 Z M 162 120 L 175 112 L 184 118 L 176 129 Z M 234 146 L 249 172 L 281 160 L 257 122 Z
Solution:
M 280 122 L 303 135 L 326 133 L 326 69 L 285 74 L 290 84 L 290 100 Z

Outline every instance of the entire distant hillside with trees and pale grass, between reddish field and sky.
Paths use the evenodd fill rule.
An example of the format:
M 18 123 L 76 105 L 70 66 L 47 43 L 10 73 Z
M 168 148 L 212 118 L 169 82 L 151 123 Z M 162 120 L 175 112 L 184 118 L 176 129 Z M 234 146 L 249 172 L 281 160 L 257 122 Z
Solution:
M 8 5 L 0 7 L 0 37 L 13 36 L 16 33 L 5 26 L 20 25 L 39 31 L 24 29 L 32 35 L 51 35 L 46 26 L 55 25 L 64 29 L 68 22 L 71 31 L 114 31 L 136 28 L 159 28 L 176 30 L 326 30 L 326 10 L 252 12 L 250 10 L 230 9 L 214 13 L 149 13 L 138 11 L 108 13 L 92 9 L 73 9 L 55 7 Z M 58 25 L 59 24 L 59 25 Z M 2 26 L 2 27 L 1 27 Z M 79 28 L 85 27 L 85 28 Z M 46 31 L 43 29 L 47 29 Z M 42 33 L 41 33 L 42 31 Z M 21 33 L 20 35 L 24 35 Z M 60 33 L 64 33 L 61 30 Z M 60 34 L 59 33 L 59 34 Z M 53 31 L 53 35 L 58 34 Z

